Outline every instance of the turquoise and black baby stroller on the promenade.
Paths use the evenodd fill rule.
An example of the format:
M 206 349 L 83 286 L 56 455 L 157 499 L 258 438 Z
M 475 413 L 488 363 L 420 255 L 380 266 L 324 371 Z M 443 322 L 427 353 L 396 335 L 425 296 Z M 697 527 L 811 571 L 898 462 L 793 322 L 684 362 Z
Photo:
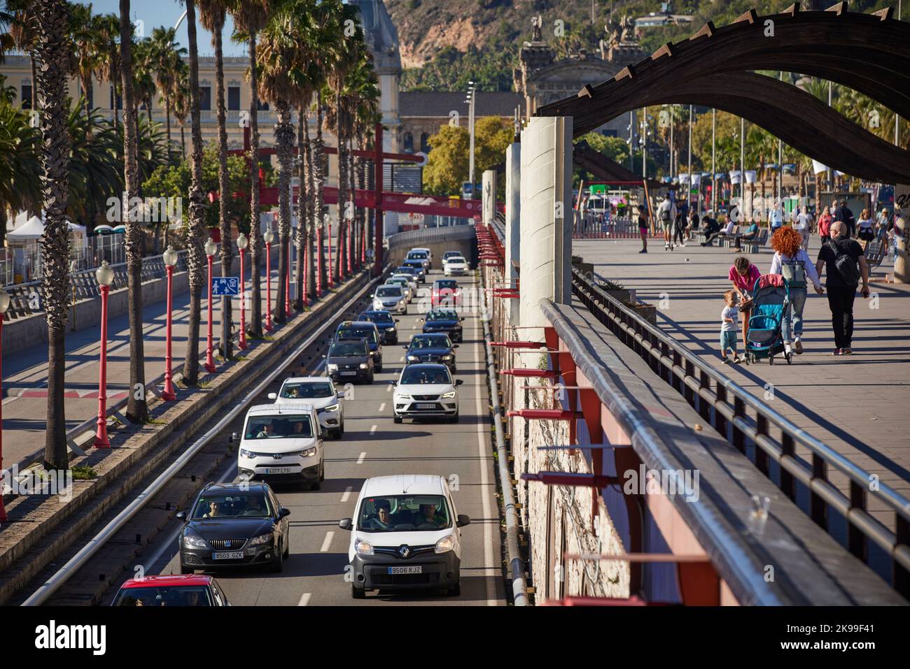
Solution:
M 746 332 L 745 362 L 757 363 L 764 358 L 774 364 L 774 355 L 784 354 L 787 364 L 793 354 L 784 350 L 782 325 L 790 316 L 790 287 L 781 275 L 763 275 L 755 281 L 752 316 Z

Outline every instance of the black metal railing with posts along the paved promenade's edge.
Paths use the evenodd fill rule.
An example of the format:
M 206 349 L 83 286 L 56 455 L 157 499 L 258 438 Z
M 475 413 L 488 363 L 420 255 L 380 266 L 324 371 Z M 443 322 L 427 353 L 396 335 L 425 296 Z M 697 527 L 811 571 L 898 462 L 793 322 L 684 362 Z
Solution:
M 572 269 L 572 291 L 592 315 L 650 364 L 655 374 L 682 394 L 741 453 L 746 454 L 747 441 L 754 444 L 755 466 L 797 506 L 797 484 L 802 484 L 809 494 L 808 513 L 828 534 L 834 535 L 828 526 L 829 508 L 842 514 L 850 553 L 869 564 L 869 542 L 884 550 L 891 562 L 892 586 L 905 597 L 910 596 L 910 500 L 886 484 L 872 489 L 870 482 L 874 479 L 862 467 L 703 362 L 659 327 L 607 295 L 576 268 Z M 746 413 L 747 409 L 754 418 Z M 780 436 L 772 434 L 772 427 Z M 795 454 L 797 445 L 811 453 L 811 463 Z M 773 476 L 771 461 L 779 466 L 777 476 Z M 849 496 L 831 483 L 831 468 L 848 478 Z M 869 514 L 870 495 L 895 514 L 894 530 Z

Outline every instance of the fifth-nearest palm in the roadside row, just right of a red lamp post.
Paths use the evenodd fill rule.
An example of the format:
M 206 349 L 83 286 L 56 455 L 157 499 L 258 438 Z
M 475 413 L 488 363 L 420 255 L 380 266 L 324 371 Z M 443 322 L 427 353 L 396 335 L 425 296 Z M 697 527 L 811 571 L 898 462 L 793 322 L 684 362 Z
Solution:
M 252 318 L 249 332 L 262 335 L 262 234 L 259 228 L 259 98 L 257 73 L 257 34 L 266 25 L 271 7 L 269 0 L 235 0 L 228 7 L 234 18 L 238 42 L 246 42 L 249 55 L 249 260 L 252 285 Z M 245 327 L 245 324 L 241 324 Z

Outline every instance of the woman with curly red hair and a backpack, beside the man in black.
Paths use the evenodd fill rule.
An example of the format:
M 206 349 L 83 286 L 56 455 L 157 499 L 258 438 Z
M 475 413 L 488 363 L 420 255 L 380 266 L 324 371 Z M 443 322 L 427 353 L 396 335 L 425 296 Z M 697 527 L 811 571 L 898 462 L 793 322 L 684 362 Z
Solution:
M 774 257 L 771 261 L 769 275 L 783 275 L 790 288 L 790 314 L 784 317 L 781 329 L 784 335 L 784 350 L 790 352 L 791 336 L 795 338 L 796 354 L 803 353 L 803 307 L 808 285 L 812 281 L 818 295 L 824 293 L 822 283 L 815 271 L 815 265 L 803 248 L 803 235 L 792 227 L 778 228 L 771 236 L 771 248 Z

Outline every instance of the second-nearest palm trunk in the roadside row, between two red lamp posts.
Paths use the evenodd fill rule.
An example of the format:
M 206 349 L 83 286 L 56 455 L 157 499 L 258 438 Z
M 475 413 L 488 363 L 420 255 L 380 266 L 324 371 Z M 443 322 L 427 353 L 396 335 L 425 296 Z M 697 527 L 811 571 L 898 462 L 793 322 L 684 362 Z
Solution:
M 123 155 L 124 196 L 121 210 L 139 195 L 139 168 L 137 165 L 136 105 L 133 104 L 133 22 L 129 14 L 129 0 L 120 0 L 120 67 L 123 75 L 124 134 Z M 126 220 L 126 285 L 129 289 L 129 399 L 126 417 L 133 423 L 144 423 L 148 418 L 146 402 L 146 360 L 142 337 L 142 230 L 141 221 L 129 216 Z M 141 391 L 136 392 L 141 388 Z

